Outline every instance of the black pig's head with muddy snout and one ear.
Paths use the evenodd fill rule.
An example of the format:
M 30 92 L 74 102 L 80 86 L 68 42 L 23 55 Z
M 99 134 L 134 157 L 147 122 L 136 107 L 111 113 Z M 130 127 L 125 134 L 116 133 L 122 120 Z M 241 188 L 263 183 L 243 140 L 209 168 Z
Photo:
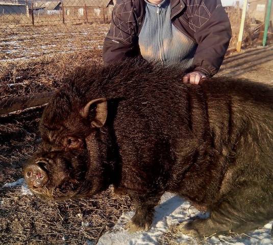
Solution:
M 106 188 L 107 101 L 72 97 L 59 91 L 49 102 L 40 121 L 41 149 L 24 166 L 26 183 L 42 198 L 79 198 Z

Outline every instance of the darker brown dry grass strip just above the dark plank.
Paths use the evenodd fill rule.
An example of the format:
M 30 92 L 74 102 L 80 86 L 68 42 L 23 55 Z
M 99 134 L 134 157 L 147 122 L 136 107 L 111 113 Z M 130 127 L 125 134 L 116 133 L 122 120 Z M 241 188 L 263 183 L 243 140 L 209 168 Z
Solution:
M 0 67 L 0 101 L 56 90 L 72 69 L 101 62 L 101 51 L 93 50 L 4 63 Z

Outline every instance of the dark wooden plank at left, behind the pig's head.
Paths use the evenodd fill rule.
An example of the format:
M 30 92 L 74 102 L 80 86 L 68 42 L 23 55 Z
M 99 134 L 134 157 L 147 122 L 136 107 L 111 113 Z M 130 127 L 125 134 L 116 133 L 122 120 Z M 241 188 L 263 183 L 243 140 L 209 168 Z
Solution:
M 48 103 L 55 92 L 37 93 L 31 96 L 20 96 L 0 102 L 0 115 L 20 111 Z

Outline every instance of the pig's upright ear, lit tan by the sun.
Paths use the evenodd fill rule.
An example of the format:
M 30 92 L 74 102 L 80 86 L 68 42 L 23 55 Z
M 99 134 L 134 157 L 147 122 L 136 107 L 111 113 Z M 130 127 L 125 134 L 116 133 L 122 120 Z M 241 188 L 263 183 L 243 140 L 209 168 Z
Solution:
M 91 120 L 92 128 L 102 128 L 106 122 L 107 117 L 107 100 L 100 98 L 89 101 L 86 106 L 80 111 L 83 118 L 88 118 L 91 108 L 96 108 L 95 116 Z

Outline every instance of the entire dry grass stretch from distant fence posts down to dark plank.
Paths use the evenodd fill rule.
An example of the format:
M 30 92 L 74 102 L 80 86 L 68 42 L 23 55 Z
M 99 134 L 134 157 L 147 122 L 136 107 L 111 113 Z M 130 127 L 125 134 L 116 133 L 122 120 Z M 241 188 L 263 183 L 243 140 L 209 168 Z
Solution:
M 56 90 L 67 74 L 102 63 L 108 25 L 19 29 L 0 35 L 0 101 L 12 96 Z M 26 38 L 22 38 L 26 37 Z

